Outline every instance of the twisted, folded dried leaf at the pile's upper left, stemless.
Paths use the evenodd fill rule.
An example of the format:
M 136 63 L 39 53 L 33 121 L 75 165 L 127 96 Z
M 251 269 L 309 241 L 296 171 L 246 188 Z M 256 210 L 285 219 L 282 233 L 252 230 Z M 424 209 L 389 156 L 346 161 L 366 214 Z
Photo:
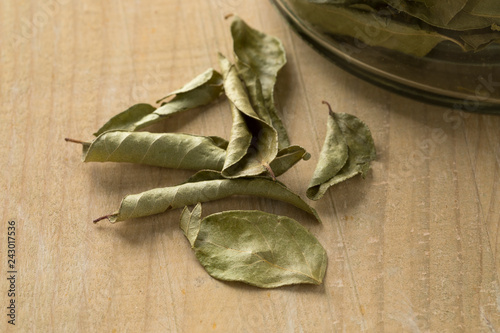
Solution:
M 209 68 L 163 99 L 175 95 L 170 101 L 155 109 L 148 104 L 137 104 L 119 113 L 104 124 L 94 135 L 110 130 L 137 131 L 167 117 L 211 103 L 222 92 L 222 76 Z M 163 99 L 159 100 L 161 102 Z

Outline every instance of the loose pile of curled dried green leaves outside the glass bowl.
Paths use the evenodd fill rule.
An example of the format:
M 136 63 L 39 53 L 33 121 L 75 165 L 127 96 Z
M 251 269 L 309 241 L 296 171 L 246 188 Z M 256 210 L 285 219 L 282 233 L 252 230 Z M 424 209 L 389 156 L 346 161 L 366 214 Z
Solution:
M 238 17 L 231 25 L 235 63 L 219 55 L 221 74 L 208 69 L 159 100 L 137 104 L 111 118 L 83 145 L 85 162 L 129 162 L 198 171 L 185 182 L 127 195 L 117 212 L 96 219 L 118 222 L 182 208 L 181 228 L 196 257 L 215 278 L 263 288 L 320 284 L 326 252 L 297 221 L 261 211 L 225 211 L 201 217 L 201 202 L 252 195 L 292 204 L 320 220 L 300 196 L 276 177 L 310 155 L 290 145 L 274 105 L 285 50 L 275 37 Z M 214 102 L 224 94 L 232 113 L 231 137 L 138 131 L 155 122 Z M 352 115 L 330 110 L 320 162 L 307 191 L 319 199 L 328 187 L 368 170 L 375 158 L 370 131 Z M 190 211 L 187 206 L 195 205 Z

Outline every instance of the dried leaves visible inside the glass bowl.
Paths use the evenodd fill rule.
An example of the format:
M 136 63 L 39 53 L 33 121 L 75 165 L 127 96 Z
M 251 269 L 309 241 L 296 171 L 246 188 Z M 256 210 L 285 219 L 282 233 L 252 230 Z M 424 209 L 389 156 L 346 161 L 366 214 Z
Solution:
M 423 57 L 441 42 L 479 51 L 498 42 L 494 0 L 290 0 L 300 15 L 334 35 Z

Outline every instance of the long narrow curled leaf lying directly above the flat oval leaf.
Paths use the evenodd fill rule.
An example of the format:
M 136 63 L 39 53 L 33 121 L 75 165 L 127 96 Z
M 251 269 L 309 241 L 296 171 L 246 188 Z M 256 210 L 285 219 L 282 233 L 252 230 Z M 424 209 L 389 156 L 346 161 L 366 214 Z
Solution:
M 278 181 L 266 178 L 226 179 L 218 172 L 200 171 L 187 182 L 177 186 L 127 195 L 123 198 L 116 213 L 98 218 L 95 222 L 107 218 L 114 223 L 233 195 L 251 195 L 280 200 L 314 215 L 320 221 L 312 207 Z

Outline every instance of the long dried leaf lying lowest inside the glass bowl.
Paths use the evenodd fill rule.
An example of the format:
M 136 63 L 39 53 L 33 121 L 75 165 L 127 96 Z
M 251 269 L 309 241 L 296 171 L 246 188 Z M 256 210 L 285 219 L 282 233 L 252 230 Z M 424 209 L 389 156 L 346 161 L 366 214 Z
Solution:
M 406 54 L 423 57 L 437 44 L 449 40 L 459 46 L 454 38 L 422 28 L 418 23 L 402 23 L 377 13 L 350 9 L 343 6 L 304 3 L 290 0 L 312 25 L 322 27 L 326 33 L 345 35 L 359 39 L 370 46 L 380 46 Z M 366 34 L 367 24 L 376 33 Z

